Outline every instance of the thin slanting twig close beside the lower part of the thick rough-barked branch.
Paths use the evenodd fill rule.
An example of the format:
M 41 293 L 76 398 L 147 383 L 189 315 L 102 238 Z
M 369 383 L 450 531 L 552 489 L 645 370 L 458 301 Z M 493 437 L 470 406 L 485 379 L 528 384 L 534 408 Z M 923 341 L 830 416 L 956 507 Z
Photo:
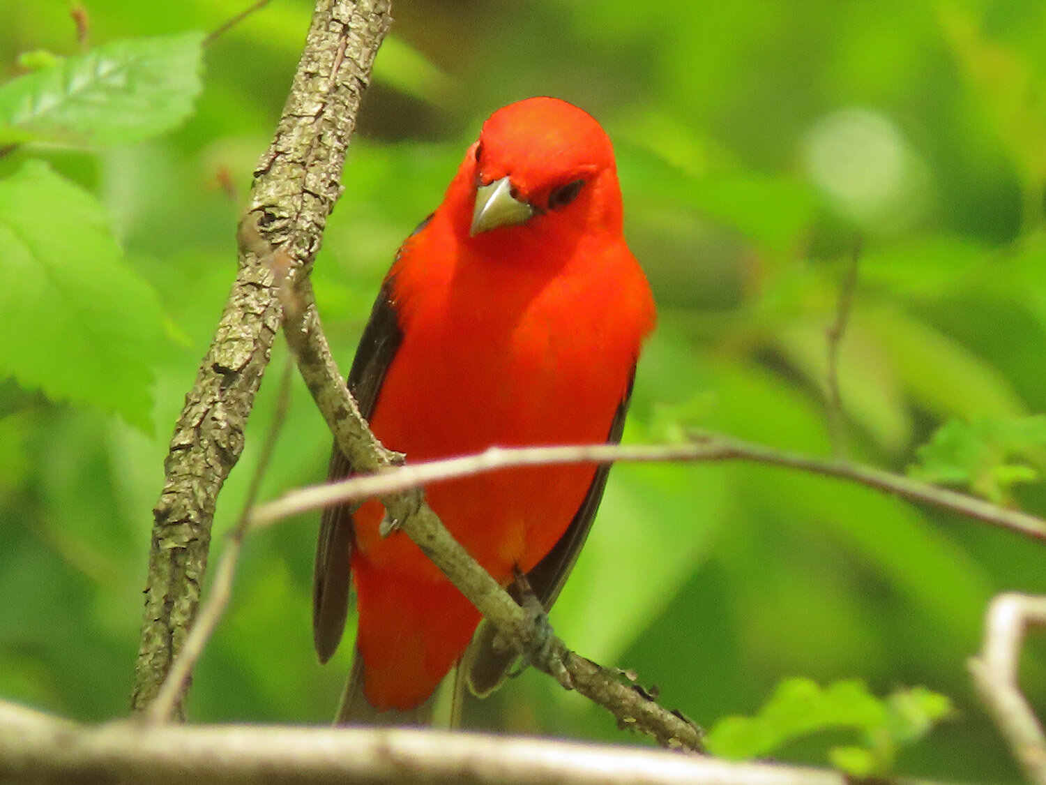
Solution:
M 262 480 L 265 478 L 272 461 L 273 450 L 279 440 L 279 433 L 287 422 L 287 412 L 291 408 L 291 373 L 294 363 L 291 358 L 287 358 L 283 365 L 283 373 L 279 379 L 279 390 L 276 392 L 276 407 L 273 411 L 272 421 L 269 423 L 269 431 L 262 443 L 262 454 L 258 456 L 257 466 L 251 475 L 251 484 L 247 490 L 247 498 L 244 501 L 244 509 L 240 513 L 236 525 L 229 535 L 222 553 L 222 558 L 218 562 L 214 577 L 211 582 L 210 592 L 206 601 L 200 608 L 200 613 L 185 637 L 185 645 L 175 658 L 167 673 L 167 677 L 160 686 L 160 691 L 156 699 L 150 703 L 144 712 L 144 719 L 150 723 L 167 722 L 182 699 L 189 679 L 192 676 L 192 669 L 196 667 L 204 647 L 210 640 L 218 626 L 222 614 L 229 605 L 229 598 L 232 596 L 232 580 L 236 574 L 236 561 L 240 559 L 240 552 L 244 546 L 244 538 L 251 530 L 251 512 L 257 501 L 258 492 L 262 488 Z

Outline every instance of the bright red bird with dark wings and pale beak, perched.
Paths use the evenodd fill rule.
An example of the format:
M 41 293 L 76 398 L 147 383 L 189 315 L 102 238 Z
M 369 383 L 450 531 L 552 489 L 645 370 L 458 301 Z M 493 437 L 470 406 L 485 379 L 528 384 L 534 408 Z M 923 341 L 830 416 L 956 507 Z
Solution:
M 408 461 L 504 447 L 620 440 L 650 286 L 622 232 L 607 134 L 566 102 L 495 112 L 444 201 L 404 243 L 348 376 L 374 433 Z M 335 449 L 331 477 L 351 471 Z M 528 574 L 549 607 L 592 524 L 608 467 L 511 469 L 433 484 L 426 497 L 502 585 Z M 461 658 L 479 612 L 406 535 L 383 538 L 382 508 L 325 511 L 316 556 L 320 659 L 359 609 L 340 721 L 412 712 Z M 480 652 L 484 692 L 506 657 Z M 395 716 L 395 715 L 392 715 Z

